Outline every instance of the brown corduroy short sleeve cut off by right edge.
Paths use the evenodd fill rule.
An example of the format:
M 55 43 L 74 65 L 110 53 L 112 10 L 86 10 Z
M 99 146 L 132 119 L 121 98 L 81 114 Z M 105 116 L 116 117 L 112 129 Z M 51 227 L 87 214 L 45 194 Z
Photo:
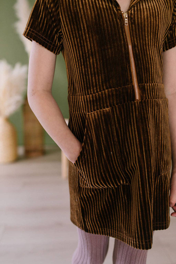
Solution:
M 172 20 L 163 43 L 163 51 L 171 49 L 176 46 L 176 0 L 173 2 Z

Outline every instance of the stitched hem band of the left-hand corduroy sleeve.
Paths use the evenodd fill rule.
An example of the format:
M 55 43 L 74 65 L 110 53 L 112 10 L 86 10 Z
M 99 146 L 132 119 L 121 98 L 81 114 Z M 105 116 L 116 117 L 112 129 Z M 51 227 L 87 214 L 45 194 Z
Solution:
M 26 27 L 25 31 L 23 32 L 23 36 L 25 36 L 29 40 L 34 40 L 39 43 L 41 46 L 46 48 L 47 50 L 53 52 L 54 54 L 58 55 L 62 50 L 63 46 L 56 46 L 51 41 L 47 40 L 44 36 L 36 32 L 35 30 Z

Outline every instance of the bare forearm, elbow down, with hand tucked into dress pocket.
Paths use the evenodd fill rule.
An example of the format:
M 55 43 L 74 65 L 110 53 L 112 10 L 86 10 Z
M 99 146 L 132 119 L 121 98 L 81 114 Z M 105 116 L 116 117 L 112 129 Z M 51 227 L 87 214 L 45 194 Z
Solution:
M 37 91 L 34 95 L 28 95 L 28 103 L 46 132 L 66 157 L 74 162 L 75 152 L 79 153 L 80 142 L 66 124 L 52 94 L 48 91 Z

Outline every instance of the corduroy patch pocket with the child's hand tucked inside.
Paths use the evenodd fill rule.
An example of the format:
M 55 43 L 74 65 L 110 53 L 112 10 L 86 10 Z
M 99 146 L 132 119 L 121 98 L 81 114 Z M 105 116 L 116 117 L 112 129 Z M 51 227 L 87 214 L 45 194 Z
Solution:
M 110 107 L 86 114 L 82 149 L 74 166 L 78 169 L 82 187 L 108 188 L 130 184 L 116 148 Z

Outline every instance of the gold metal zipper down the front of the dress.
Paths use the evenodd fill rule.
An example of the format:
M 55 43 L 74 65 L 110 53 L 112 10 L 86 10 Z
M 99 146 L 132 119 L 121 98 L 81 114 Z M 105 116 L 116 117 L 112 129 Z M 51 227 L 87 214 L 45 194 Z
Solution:
M 133 84 L 135 87 L 136 100 L 139 100 L 139 86 L 137 83 L 136 68 L 134 64 L 134 56 L 133 56 L 132 45 L 131 45 L 130 29 L 129 29 L 129 24 L 128 24 L 128 12 L 127 11 L 126 12 L 121 11 L 121 12 L 122 12 L 122 15 L 124 16 L 125 32 L 127 36 L 128 48 L 129 48 L 129 53 L 130 53 L 131 72 L 132 72 Z

